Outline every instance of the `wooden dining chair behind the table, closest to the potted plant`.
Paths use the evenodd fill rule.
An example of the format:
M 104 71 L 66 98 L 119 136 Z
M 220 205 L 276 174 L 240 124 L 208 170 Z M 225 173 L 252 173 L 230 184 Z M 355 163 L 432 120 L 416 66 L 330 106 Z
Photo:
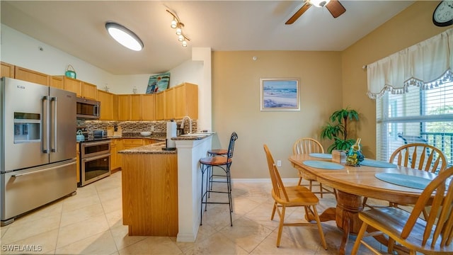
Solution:
M 292 154 L 310 154 L 310 153 L 324 153 L 324 148 L 321 145 L 320 142 L 317 140 L 314 140 L 313 138 L 309 137 L 302 137 L 299 138 L 296 142 L 294 142 L 294 145 L 292 146 Z M 296 168 L 299 171 L 299 182 L 297 185 L 301 185 L 302 180 L 305 179 L 306 181 L 309 181 L 308 187 L 310 191 L 313 191 L 313 186 L 319 186 L 319 192 L 316 191 L 314 193 L 316 194 L 321 194 L 321 198 L 323 198 L 323 193 L 333 193 L 334 195 L 336 194 L 335 190 L 329 190 L 326 187 L 323 187 L 322 183 L 316 182 L 311 176 L 308 174 L 305 174 L 302 169 L 298 169 L 296 166 L 293 167 Z M 316 184 L 313 184 L 316 183 Z M 306 186 L 306 185 L 304 185 Z

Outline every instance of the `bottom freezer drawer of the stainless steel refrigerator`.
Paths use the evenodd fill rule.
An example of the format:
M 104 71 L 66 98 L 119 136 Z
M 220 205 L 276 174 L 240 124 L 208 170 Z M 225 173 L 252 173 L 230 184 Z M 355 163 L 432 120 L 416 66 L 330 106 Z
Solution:
M 76 159 L 0 174 L 1 223 L 77 190 Z

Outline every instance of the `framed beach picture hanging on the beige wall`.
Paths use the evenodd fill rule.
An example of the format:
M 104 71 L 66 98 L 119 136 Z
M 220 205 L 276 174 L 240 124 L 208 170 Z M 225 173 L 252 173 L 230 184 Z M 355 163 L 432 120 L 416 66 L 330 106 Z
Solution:
M 299 79 L 260 79 L 260 111 L 300 111 Z

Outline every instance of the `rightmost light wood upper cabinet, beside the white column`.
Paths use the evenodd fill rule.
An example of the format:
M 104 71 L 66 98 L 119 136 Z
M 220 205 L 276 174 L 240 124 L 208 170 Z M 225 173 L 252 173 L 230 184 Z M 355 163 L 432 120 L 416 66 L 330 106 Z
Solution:
M 175 119 L 182 119 L 188 115 L 194 120 L 198 119 L 198 86 L 184 83 L 175 86 Z

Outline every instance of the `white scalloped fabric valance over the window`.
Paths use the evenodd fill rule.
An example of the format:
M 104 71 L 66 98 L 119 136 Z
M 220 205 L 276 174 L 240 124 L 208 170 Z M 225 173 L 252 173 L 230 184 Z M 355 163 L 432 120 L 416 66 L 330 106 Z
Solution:
M 408 86 L 430 89 L 453 77 L 453 28 L 367 65 L 369 98 L 385 91 L 403 94 Z

